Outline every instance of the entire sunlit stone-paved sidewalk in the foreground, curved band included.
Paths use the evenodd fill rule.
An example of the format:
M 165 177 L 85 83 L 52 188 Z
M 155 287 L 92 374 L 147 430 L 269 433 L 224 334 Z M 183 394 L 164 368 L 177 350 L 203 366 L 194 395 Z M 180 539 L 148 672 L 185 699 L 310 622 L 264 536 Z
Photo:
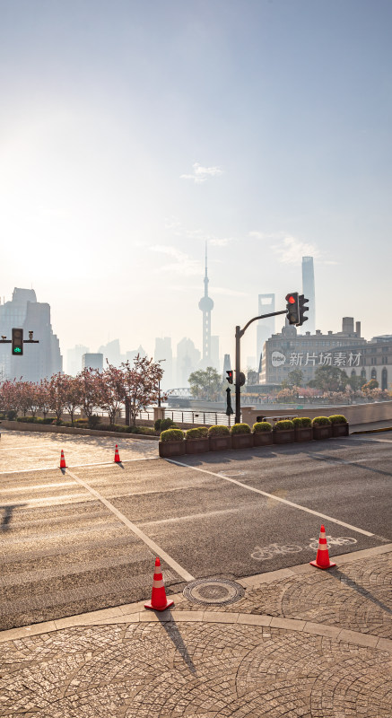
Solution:
M 390 718 L 392 545 L 241 581 L 227 606 L 174 597 L 0 634 L 0 715 Z

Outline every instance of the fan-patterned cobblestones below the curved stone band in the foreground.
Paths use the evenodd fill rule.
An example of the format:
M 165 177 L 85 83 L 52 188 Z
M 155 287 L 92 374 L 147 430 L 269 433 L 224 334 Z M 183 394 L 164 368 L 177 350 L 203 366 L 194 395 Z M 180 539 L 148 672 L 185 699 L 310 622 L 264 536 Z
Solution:
M 280 628 L 78 626 L 2 654 L 9 718 L 390 718 L 390 652 Z

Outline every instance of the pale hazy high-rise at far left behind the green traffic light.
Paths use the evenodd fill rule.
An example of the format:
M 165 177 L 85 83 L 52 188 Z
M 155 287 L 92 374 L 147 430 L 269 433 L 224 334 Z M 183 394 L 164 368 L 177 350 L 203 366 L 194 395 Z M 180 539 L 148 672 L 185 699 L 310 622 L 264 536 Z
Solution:
M 23 381 L 36 382 L 63 371 L 58 338 L 50 324 L 50 306 L 37 302 L 33 289 L 15 287 L 12 302 L 0 306 L 2 335 L 11 338 L 13 327 L 22 328 L 26 339 L 32 330 L 39 344 L 25 344 L 22 356 L 12 356 L 11 345 L 0 345 L 0 379 L 22 376 Z

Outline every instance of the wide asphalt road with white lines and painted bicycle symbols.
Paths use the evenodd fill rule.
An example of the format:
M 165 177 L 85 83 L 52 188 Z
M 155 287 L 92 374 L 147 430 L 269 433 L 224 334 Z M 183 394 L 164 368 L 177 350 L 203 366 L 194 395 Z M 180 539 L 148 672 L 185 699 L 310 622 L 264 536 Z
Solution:
M 19 441 L 27 468 L 0 472 L 2 629 L 148 599 L 156 555 L 173 592 L 312 560 L 323 522 L 330 556 L 392 541 L 392 433 L 176 462 L 127 440 L 121 465 L 73 437 L 63 470 L 32 468 L 35 436 L 8 433 L 2 456 Z

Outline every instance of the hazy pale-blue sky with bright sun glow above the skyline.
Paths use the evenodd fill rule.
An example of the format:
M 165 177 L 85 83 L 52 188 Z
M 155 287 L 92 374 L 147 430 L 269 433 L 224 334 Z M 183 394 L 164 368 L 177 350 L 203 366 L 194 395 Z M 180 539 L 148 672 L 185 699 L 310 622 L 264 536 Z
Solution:
M 207 240 L 222 354 L 303 255 L 318 328 L 392 333 L 391 24 L 390 0 L 0 0 L 1 296 L 32 285 L 64 355 L 201 349 Z

